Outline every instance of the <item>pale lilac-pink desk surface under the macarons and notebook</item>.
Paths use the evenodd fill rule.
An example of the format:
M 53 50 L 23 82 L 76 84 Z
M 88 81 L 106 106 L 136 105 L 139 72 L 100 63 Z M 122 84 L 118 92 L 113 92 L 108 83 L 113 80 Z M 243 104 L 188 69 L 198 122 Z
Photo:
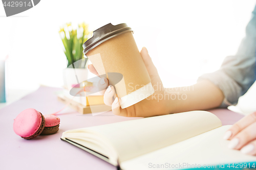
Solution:
M 51 114 L 65 105 L 57 101 L 60 88 L 41 86 L 0 110 L 0 169 L 116 169 L 113 165 L 60 140 L 62 132 L 70 129 L 110 124 L 135 118 L 113 115 L 112 112 L 92 116 L 80 114 L 71 108 L 63 110 L 60 130 L 53 135 L 25 140 L 13 131 L 13 120 L 23 110 L 34 108 L 42 114 Z M 223 125 L 232 125 L 243 116 L 227 109 L 214 109 Z

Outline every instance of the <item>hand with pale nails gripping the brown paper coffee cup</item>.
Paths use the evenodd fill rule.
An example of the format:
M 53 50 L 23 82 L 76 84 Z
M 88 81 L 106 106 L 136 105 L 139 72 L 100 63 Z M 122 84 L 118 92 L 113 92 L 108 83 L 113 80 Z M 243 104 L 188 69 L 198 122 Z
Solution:
M 142 48 L 141 57 L 146 66 L 147 72 L 150 75 L 151 83 L 154 87 L 155 93 L 148 98 L 136 103 L 130 107 L 121 109 L 120 107 L 120 98 L 115 97 L 115 89 L 114 86 L 109 86 L 109 81 L 106 78 L 101 78 L 98 82 L 98 88 L 101 90 L 101 94 L 104 95 L 104 103 L 108 106 L 112 106 L 112 111 L 115 115 L 128 116 L 128 117 L 148 117 L 155 115 L 164 115 L 169 113 L 170 106 L 163 98 L 165 94 L 165 90 L 162 85 L 162 81 L 158 75 L 157 69 L 152 62 L 150 55 L 148 55 L 147 49 L 145 47 Z M 89 70 L 99 76 L 98 72 L 94 68 L 94 66 L 88 65 Z M 161 100 L 159 99 L 161 96 Z

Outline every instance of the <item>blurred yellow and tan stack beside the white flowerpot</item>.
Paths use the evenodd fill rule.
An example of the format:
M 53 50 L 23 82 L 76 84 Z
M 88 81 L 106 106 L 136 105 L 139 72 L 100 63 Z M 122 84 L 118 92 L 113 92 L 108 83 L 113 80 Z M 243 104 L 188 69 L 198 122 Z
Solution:
M 70 107 L 82 114 L 110 111 L 111 106 L 104 104 L 103 95 L 99 92 L 91 92 L 95 88 L 96 87 L 88 82 L 86 83 L 86 86 L 81 86 L 79 84 L 73 85 L 70 90 L 67 87 L 64 87 L 63 92 L 58 94 L 58 100 L 65 104 L 69 104 Z

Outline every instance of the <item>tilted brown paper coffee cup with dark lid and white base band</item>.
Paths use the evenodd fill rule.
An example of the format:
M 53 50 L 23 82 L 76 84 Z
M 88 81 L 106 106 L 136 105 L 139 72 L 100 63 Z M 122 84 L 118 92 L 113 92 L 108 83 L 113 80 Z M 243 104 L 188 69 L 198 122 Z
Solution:
M 108 78 L 110 85 L 115 87 L 117 96 L 121 99 L 121 108 L 126 108 L 152 95 L 154 88 L 133 31 L 125 23 L 117 26 L 109 23 L 94 31 L 96 40 L 90 42 L 89 39 L 89 43 L 85 42 L 83 47 L 84 54 L 98 74 Z

